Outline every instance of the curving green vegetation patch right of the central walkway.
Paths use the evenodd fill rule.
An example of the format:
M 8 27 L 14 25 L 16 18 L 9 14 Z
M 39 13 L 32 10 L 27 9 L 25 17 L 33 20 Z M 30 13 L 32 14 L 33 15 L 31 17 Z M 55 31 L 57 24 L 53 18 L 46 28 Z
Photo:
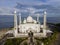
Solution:
M 53 35 L 48 38 L 35 38 L 35 39 L 38 40 L 38 42 L 39 41 L 43 42 L 44 45 L 49 45 L 53 41 L 55 41 L 57 34 L 58 34 L 57 32 L 54 32 Z

